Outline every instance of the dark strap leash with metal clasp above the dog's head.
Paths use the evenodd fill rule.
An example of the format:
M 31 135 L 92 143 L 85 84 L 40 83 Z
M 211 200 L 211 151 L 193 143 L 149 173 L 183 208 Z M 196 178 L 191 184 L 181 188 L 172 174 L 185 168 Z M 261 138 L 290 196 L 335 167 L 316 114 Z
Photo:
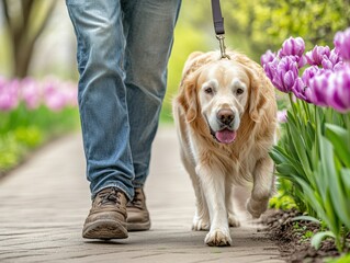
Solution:
M 222 8 L 219 5 L 219 0 L 212 0 L 212 11 L 213 11 L 214 30 L 215 30 L 216 38 L 218 39 L 222 58 L 229 59 L 229 56 L 226 54 L 224 18 L 222 14 Z

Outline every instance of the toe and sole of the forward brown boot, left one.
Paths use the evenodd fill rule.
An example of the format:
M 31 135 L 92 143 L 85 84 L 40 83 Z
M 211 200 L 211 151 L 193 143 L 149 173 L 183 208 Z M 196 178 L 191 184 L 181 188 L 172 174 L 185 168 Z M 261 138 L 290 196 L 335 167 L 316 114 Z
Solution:
M 115 220 L 97 220 L 87 224 L 82 229 L 86 239 L 126 239 L 128 237 L 125 226 Z

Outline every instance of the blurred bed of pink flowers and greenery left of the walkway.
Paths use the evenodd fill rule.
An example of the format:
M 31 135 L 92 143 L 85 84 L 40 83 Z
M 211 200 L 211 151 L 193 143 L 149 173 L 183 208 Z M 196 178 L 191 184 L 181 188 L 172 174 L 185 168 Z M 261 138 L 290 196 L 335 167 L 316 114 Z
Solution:
M 77 88 L 47 78 L 0 77 L 0 175 L 48 139 L 77 127 Z

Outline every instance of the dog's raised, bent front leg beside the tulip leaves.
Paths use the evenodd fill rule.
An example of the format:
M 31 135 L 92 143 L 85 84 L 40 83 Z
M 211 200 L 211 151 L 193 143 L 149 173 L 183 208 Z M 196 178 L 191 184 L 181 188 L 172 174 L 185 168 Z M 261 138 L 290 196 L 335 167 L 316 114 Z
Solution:
M 247 210 L 252 217 L 259 218 L 267 210 L 273 183 L 273 162 L 269 157 L 262 158 L 257 161 L 251 196 L 247 202 Z

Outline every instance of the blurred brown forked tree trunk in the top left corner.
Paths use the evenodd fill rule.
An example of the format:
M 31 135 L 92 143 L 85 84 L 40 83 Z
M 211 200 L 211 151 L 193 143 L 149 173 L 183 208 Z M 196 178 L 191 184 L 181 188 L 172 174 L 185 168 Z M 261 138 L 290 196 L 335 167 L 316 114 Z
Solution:
M 0 0 L 12 47 L 13 76 L 27 75 L 35 42 L 44 31 L 56 0 Z

